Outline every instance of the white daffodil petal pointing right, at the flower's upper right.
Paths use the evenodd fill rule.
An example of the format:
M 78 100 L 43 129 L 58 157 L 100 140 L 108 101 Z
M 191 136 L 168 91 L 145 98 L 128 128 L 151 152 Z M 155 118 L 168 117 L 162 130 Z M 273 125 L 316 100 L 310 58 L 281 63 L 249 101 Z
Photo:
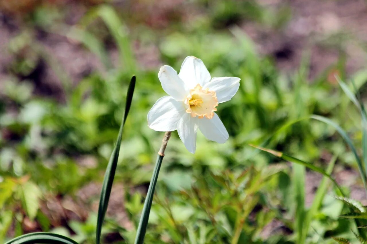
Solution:
M 217 94 L 218 103 L 224 103 L 235 96 L 240 87 L 240 80 L 238 77 L 212 78 L 210 82 L 204 85 L 203 89 L 213 90 Z

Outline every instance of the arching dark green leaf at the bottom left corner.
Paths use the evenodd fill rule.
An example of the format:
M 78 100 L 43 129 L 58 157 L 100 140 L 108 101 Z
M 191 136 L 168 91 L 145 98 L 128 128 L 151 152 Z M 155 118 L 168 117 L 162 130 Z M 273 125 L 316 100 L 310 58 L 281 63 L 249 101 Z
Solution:
M 36 232 L 25 234 L 8 241 L 6 244 L 78 244 L 76 241 L 61 236 L 46 232 Z

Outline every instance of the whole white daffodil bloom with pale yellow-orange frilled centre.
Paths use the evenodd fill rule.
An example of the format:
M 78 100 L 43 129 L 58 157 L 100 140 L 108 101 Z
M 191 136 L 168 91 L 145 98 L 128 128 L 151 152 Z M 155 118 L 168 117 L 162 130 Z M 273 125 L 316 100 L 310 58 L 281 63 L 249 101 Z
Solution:
M 215 114 L 219 103 L 229 101 L 240 87 L 240 78 L 211 78 L 203 61 L 186 57 L 177 75 L 171 66 L 162 66 L 158 78 L 170 96 L 161 97 L 148 113 L 148 126 L 156 131 L 177 130 L 189 152 L 196 150 L 199 129 L 206 138 L 225 143 L 228 132 Z

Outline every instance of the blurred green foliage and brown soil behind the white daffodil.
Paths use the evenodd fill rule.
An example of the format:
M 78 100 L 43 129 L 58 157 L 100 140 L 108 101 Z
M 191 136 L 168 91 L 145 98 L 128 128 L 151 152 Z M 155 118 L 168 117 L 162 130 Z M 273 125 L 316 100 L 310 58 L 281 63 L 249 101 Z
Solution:
M 323 115 L 361 149 L 359 111 L 334 75 L 350 88 L 353 80 L 364 100 L 365 1 L 0 0 L 0 10 L 0 242 L 41 230 L 94 242 L 101 182 L 135 74 L 102 230 L 102 243 L 133 243 L 163 137 L 146 124 L 164 95 L 157 72 L 163 64 L 178 71 L 188 55 L 212 77 L 241 78 L 218 108 L 230 138 L 216 144 L 199 133 L 192 155 L 172 134 L 146 243 L 357 240 L 354 223 L 339 217 L 348 204 L 327 179 L 248 144 L 267 141 L 333 171 L 367 204 L 355 158 L 332 127 L 304 120 L 279 130 Z

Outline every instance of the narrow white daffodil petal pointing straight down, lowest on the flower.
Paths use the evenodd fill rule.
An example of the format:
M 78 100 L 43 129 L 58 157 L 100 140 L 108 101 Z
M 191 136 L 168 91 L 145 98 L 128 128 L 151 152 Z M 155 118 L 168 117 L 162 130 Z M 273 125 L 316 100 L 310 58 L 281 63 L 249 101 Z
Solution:
M 196 125 L 195 118 L 192 118 L 190 114 L 186 113 L 178 121 L 177 133 L 186 149 L 192 154 L 196 150 Z

